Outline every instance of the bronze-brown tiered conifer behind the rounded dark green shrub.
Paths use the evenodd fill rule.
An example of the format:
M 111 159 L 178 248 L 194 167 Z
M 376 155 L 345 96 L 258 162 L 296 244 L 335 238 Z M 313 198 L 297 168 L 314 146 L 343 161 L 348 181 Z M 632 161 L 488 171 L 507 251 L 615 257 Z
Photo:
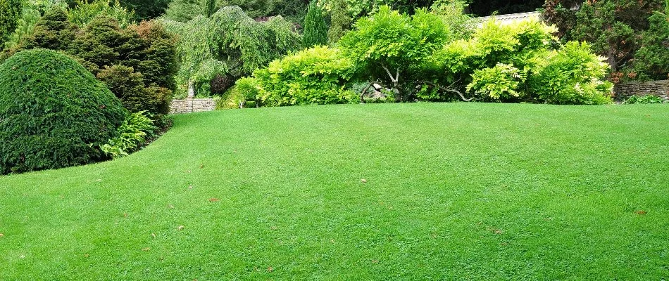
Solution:
M 175 39 L 160 23 L 141 22 L 123 30 L 115 19 L 97 16 L 77 30 L 64 11 L 47 15 L 23 48 L 65 51 L 104 81 L 131 112 L 144 110 L 155 117 L 168 114 L 177 57 Z

